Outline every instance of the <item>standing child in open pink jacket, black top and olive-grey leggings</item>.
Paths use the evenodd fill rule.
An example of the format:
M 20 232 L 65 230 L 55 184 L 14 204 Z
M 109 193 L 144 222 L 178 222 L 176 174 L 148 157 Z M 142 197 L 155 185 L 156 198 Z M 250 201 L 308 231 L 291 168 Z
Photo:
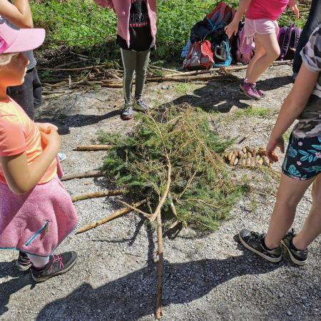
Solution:
M 125 105 L 121 118 L 133 118 L 131 89 L 135 79 L 136 105 L 142 111 L 148 106 L 142 99 L 149 55 L 156 41 L 156 0 L 95 0 L 116 12 L 118 19 L 117 41 L 123 60 L 123 92 Z

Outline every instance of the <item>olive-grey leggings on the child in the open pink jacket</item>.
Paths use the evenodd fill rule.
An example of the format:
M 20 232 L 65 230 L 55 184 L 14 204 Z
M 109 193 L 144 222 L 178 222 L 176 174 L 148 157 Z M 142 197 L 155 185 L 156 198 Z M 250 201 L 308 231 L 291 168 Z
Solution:
M 121 49 L 121 58 L 123 60 L 123 93 L 126 103 L 131 102 L 134 71 L 136 71 L 135 99 L 141 99 L 146 78 L 146 70 L 148 67 L 149 54 L 151 54 L 151 49 L 146 51 Z

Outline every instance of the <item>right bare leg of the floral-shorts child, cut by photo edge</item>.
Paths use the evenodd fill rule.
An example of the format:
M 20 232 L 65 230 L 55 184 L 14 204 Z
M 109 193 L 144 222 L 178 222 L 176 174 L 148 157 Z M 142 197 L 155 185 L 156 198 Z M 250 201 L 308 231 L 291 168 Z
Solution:
M 317 175 L 312 185 L 312 207 L 305 225 L 292 242 L 298 250 L 305 250 L 321 234 L 321 175 Z

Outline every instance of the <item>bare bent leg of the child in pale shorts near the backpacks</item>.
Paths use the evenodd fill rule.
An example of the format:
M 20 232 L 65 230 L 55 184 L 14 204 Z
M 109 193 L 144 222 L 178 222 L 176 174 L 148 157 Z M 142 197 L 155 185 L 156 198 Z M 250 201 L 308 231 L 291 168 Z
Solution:
M 266 54 L 253 63 L 252 70 L 247 76 L 248 83 L 255 83 L 270 64 L 280 56 L 280 46 L 277 43 L 275 32 L 272 34 L 255 34 L 255 39 L 262 44 Z

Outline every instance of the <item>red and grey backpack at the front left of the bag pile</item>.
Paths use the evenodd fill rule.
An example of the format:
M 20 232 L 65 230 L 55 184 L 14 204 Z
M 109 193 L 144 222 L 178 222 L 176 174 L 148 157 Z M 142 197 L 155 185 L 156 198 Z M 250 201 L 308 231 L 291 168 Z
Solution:
M 213 64 L 213 52 L 210 41 L 196 41 L 190 46 L 183 68 L 188 70 L 209 69 Z

